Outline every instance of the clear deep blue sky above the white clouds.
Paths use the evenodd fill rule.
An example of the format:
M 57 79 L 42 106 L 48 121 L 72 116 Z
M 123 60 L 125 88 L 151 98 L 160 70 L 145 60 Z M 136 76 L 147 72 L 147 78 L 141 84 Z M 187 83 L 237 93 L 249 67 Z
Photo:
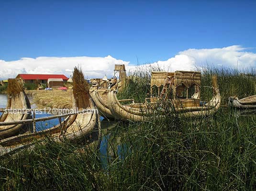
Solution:
M 0 60 L 111 55 L 137 64 L 180 51 L 256 49 L 256 1 L 1 2 Z

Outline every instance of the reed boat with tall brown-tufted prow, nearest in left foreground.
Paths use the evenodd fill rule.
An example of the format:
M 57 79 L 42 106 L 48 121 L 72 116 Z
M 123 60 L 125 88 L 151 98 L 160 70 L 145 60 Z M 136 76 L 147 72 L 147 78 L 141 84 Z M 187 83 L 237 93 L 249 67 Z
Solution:
M 65 114 L 60 115 L 60 123 L 55 127 L 2 139 L 0 140 L 2 150 L 4 148 L 10 149 L 11 146 L 25 144 L 31 142 L 33 139 L 40 139 L 45 136 L 50 136 L 56 141 L 70 140 L 77 142 L 86 138 L 92 141 L 95 137 L 98 139 L 100 132 L 100 117 L 97 112 L 93 111 L 96 107 L 92 98 L 89 96 L 88 87 L 89 85 L 84 80 L 82 72 L 75 68 L 73 73 L 73 95 L 74 109 L 76 109 L 77 114 L 66 114 L 66 116 L 68 116 L 63 122 L 61 122 L 60 117 L 65 116 Z M 91 112 L 83 112 L 85 109 L 90 109 Z M 40 121 L 41 119 L 37 118 L 35 120 Z

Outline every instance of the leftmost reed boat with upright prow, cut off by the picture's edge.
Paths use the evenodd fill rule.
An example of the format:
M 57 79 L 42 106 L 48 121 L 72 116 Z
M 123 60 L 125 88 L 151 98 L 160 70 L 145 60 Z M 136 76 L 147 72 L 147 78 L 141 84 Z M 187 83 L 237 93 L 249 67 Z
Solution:
M 31 118 L 30 112 L 18 111 L 31 108 L 29 99 L 23 90 L 22 82 L 19 79 L 8 79 L 7 97 L 6 110 L 0 116 L 0 122 L 15 122 Z M 9 112 L 8 109 L 16 111 Z M 28 124 L 0 126 L 0 139 L 31 131 L 31 127 Z

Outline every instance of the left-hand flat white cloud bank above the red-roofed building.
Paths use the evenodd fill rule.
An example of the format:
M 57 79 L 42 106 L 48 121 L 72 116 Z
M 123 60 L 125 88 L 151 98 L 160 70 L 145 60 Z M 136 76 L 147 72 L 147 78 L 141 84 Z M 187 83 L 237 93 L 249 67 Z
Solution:
M 0 79 L 16 77 L 17 74 L 65 74 L 69 77 L 75 66 L 80 65 L 85 76 L 102 78 L 105 74 L 113 75 L 115 64 L 129 62 L 117 60 L 110 55 L 107 57 L 37 57 L 22 58 L 6 62 L 0 60 Z

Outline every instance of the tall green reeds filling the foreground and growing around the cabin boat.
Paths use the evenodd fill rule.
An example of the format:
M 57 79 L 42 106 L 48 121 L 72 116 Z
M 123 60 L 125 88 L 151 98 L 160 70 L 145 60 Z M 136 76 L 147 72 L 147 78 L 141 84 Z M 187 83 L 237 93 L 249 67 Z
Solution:
M 169 114 L 152 122 L 116 122 L 92 145 L 36 142 L 32 150 L 0 158 L 2 190 L 254 191 L 256 115 L 226 107 L 229 96 L 256 94 L 256 74 L 205 70 L 201 97 L 211 99 L 217 74 L 223 107 L 209 117 Z M 140 76 L 139 76 L 140 75 Z M 122 98 L 143 102 L 150 76 L 134 74 Z M 134 96 L 134 97 L 133 97 Z

